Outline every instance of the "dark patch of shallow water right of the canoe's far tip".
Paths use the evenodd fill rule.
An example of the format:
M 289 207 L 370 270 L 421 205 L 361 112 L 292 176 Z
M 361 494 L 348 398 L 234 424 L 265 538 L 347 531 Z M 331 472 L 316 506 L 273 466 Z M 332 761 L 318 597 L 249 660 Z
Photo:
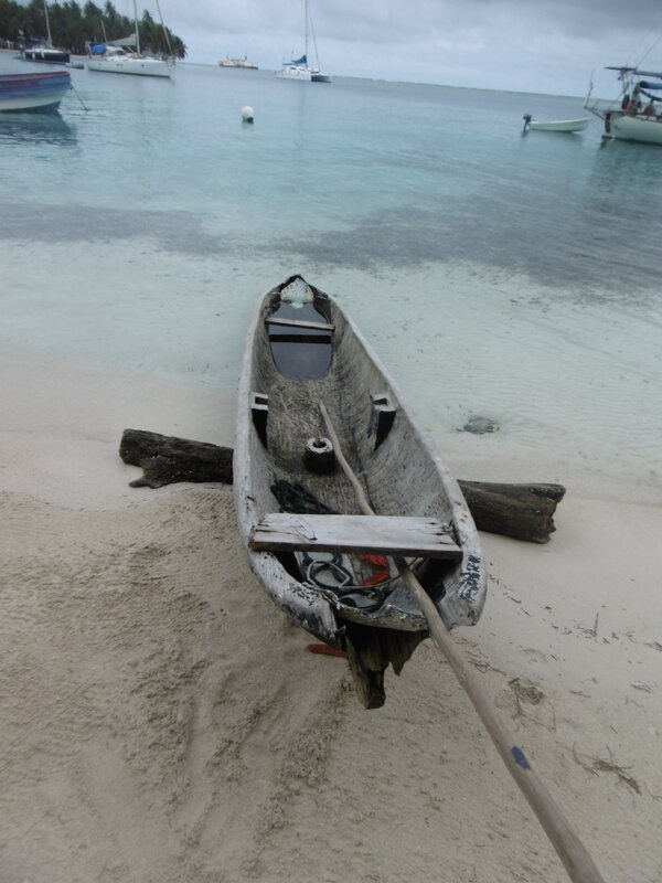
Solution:
M 428 263 L 478 263 L 526 274 L 549 288 L 572 291 L 584 301 L 659 302 L 658 224 L 648 225 L 652 206 L 640 210 L 640 233 L 623 233 L 620 212 L 599 203 L 559 220 L 542 200 L 532 213 L 494 198 L 477 198 L 470 211 L 461 202 L 433 212 L 398 209 L 374 213 L 349 231 L 310 232 L 280 240 L 279 252 L 324 266 L 377 272 L 406 270 Z M 600 222 L 594 225 L 594 214 Z

